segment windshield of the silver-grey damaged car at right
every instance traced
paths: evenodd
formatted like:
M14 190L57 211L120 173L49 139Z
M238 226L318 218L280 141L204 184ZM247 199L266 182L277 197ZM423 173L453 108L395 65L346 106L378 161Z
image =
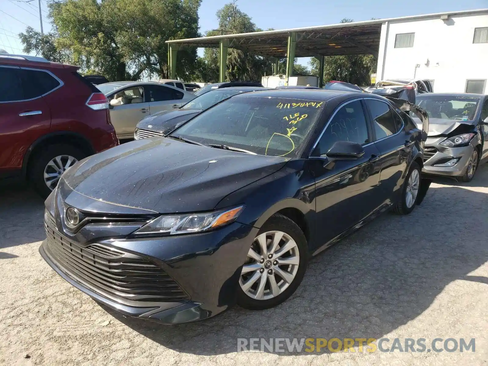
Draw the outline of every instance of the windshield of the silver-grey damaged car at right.
M425 109L430 118L469 121L474 119L480 99L467 96L429 95L416 97L416 104Z

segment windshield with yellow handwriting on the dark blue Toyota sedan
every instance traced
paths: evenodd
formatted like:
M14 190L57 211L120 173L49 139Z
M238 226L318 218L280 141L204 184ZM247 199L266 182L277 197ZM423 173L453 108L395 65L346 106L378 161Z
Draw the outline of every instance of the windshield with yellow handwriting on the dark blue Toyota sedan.
M236 95L173 131L172 135L269 156L296 157L325 102Z

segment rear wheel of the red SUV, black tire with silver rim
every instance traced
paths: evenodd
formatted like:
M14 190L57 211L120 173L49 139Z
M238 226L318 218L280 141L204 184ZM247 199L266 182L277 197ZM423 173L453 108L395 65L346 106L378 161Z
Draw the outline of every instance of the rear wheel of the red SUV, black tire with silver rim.
M56 177L53 177L51 187L47 185L44 180L45 170L47 169L47 174L52 175L54 175L56 172L55 170L53 170L54 167L52 165L50 167L47 166L49 162L54 160L56 157L63 157L61 158L62 165L66 165L68 163L67 157L72 159L74 158L74 160L69 164L69 166L71 166L77 161L80 161L81 159L86 157L86 154L83 153L80 149L65 144L47 146L46 148L40 150L39 154L36 155L37 156L35 156L29 163L27 177L33 188L36 190L37 193L39 193L39 195L43 199L46 199L47 196L49 196L52 190L56 187L56 184L59 181L59 177L61 177L61 175L58 176L58 181L55 181ZM61 174L64 172L63 167L61 167L61 169L59 170L61 171Z

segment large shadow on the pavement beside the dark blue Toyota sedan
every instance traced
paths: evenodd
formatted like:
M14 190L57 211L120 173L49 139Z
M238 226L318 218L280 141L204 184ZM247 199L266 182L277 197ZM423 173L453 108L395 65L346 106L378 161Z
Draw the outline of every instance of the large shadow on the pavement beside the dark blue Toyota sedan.
M295 295L269 310L235 307L164 326L104 308L163 346L200 355L234 352L237 338L381 338L422 314L452 281L488 285L468 275L488 260L486 187L486 168L471 183L433 184L411 215L383 215L312 259Z

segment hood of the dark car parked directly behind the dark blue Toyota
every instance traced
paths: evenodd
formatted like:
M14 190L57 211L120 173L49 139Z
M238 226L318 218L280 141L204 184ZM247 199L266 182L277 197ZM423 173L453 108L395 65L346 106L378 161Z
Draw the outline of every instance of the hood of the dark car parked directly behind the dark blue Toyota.
M193 116L201 113L201 109L172 109L161 111L150 116L144 117L137 124L136 128L157 130L167 135L182 123L188 121Z

